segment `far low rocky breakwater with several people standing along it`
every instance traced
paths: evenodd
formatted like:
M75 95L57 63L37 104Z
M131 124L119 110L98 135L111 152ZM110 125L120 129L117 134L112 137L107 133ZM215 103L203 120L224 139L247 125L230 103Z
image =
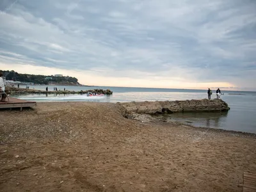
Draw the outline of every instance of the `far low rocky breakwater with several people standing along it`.
M86 93L97 93L97 94L105 94L112 95L113 92L111 90L81 90L81 91L68 91L68 90L58 90L58 91L48 91L46 90L32 90L32 89L24 89L24 88L15 88L15 87L7 87L6 93L9 95L20 95L20 94L86 94Z

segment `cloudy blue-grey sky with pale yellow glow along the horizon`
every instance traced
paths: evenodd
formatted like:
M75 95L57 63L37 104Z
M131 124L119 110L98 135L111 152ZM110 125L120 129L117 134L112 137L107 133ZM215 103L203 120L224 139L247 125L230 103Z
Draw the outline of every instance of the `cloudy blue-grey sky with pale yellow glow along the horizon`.
M255 0L1 0L0 69L256 90Z

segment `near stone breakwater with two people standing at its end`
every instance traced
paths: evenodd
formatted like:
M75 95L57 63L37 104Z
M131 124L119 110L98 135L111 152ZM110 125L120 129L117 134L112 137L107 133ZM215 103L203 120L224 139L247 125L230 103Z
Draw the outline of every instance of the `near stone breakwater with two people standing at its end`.
M230 109L228 104L221 99L124 102L118 104L126 117L132 117L134 114L157 115L178 112L228 111Z

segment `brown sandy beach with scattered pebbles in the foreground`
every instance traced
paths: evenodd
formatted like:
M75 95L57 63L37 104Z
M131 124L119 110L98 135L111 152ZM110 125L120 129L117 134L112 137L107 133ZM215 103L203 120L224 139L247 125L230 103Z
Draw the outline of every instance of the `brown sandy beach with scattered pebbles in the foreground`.
M243 191L256 136L122 116L118 105L0 111L0 191Z

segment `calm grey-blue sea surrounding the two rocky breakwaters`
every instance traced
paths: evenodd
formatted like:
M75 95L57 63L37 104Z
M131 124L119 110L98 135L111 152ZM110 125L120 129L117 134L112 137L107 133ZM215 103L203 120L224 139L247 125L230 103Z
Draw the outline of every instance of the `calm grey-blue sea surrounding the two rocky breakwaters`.
M22 88L24 86L21 86ZM30 86L36 90L45 90L46 86ZM53 90L54 86L48 86ZM104 97L86 97L86 95L53 95L31 94L17 95L19 99L35 100L36 102L54 101L87 101L87 102L130 102L154 100L187 100L205 99L207 90L163 89L163 88L124 88L99 86L57 86L58 90L91 90L110 89L113 95ZM183 122L198 127L211 127L232 131L256 133L256 92L222 91L221 99L230 106L228 113L175 113L164 116L168 121ZM241 95L232 95L239 93ZM214 91L212 98L215 97Z

